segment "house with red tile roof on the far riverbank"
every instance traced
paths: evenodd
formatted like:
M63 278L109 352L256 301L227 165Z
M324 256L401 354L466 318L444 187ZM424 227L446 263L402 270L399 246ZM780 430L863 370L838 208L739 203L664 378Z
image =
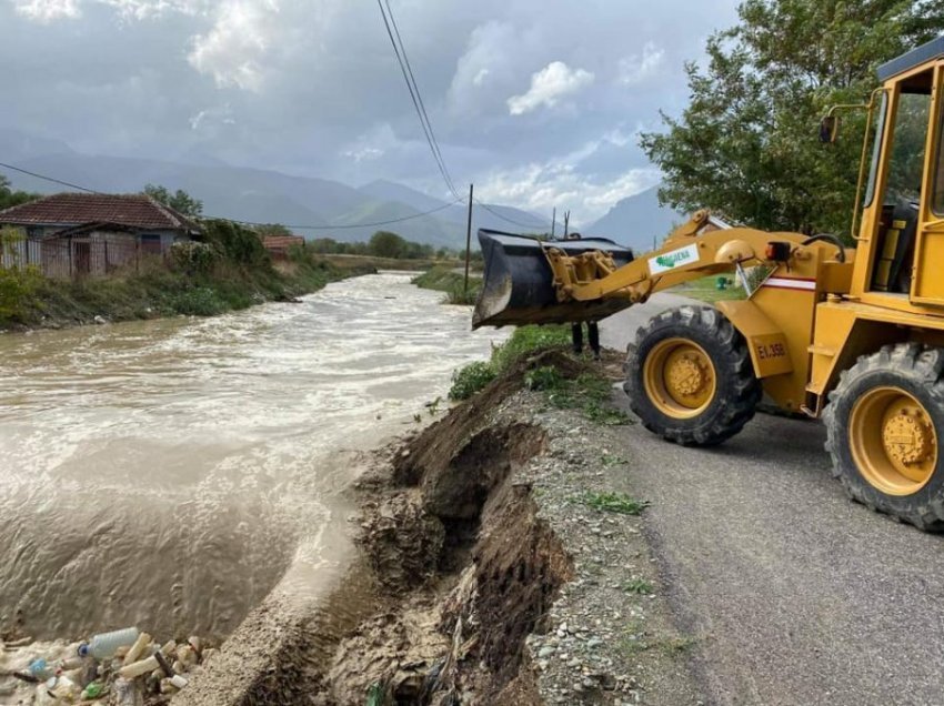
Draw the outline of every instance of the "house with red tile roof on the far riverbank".
M47 276L108 274L163 256L200 226L145 194L59 193L0 211L22 240L0 265L37 265Z

